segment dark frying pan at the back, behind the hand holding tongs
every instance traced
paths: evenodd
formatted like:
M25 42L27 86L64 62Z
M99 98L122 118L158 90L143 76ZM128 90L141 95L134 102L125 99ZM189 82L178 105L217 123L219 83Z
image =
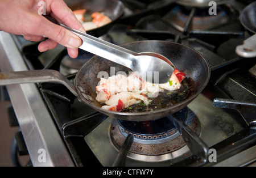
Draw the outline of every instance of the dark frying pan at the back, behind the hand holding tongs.
M88 14L92 12L104 12L104 14L112 20L111 23L106 24L105 26L86 31L89 35L95 37L100 37L108 32L113 27L113 24L121 18L124 9L123 3L118 0L65 0L64 2L73 11L86 9Z

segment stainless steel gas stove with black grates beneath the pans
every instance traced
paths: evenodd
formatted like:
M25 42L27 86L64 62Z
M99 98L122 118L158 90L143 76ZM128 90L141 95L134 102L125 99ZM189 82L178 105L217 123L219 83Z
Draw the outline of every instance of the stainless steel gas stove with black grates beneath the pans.
M101 39L114 44L167 40L208 61L210 80L173 116L117 120L96 112L55 83L7 86L32 166L249 166L256 160L255 58L236 46L249 37L240 23L251 1L218 1L217 15L199 1L122 1L125 12ZM210 23L209 23L210 22ZM93 55L71 59L63 46L39 53L38 43L0 32L0 69L53 69L73 82ZM46 159L42 158L45 151ZM216 162L212 162L212 150Z

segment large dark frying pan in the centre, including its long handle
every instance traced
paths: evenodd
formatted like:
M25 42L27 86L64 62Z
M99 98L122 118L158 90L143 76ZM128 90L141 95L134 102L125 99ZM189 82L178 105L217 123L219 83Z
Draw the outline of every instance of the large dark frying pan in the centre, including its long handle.
M94 56L80 68L76 74L75 85L58 71L30 70L0 73L0 86L17 83L59 82L67 86L80 101L107 116L127 121L147 121L180 111L195 99L208 83L210 77L208 62L196 50L185 45L170 41L135 41L121 46L138 53L149 51L166 56L177 69L187 75L185 79L189 81L188 95L179 103L168 105L168 107L156 111L127 113L101 109L102 104L96 100L96 86L102 77L98 74L104 71L110 77L110 67L115 67L115 73L124 71L129 74L130 69L98 56Z

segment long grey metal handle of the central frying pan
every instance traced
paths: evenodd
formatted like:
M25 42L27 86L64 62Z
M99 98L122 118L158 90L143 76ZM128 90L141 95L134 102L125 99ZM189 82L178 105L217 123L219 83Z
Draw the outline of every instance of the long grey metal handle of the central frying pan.
M28 71L9 71L0 73L0 86L22 83L61 83L78 97L76 88L67 78L56 70L28 70Z

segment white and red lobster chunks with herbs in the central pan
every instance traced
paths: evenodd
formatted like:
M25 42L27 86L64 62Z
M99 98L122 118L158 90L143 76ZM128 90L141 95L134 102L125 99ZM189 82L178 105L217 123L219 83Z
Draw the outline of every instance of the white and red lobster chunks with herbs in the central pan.
M160 101L170 99L169 96L162 98L163 94L159 92L171 95L172 91L181 88L181 81L184 78L185 74L177 69L172 73L170 80L163 84L146 82L135 73L131 73L128 77L122 74L113 75L108 79L101 78L100 83L96 87L96 100L105 104L102 106L102 109L109 111L129 112L129 109L130 111L133 111L134 108L138 110L138 107L141 106L146 106L147 110L154 111L159 108L158 105L161 105L159 99ZM183 94L184 91L181 93ZM158 103L155 103L155 101L158 101Z

